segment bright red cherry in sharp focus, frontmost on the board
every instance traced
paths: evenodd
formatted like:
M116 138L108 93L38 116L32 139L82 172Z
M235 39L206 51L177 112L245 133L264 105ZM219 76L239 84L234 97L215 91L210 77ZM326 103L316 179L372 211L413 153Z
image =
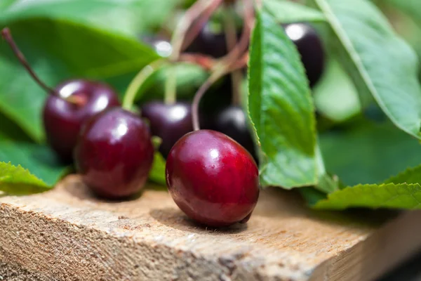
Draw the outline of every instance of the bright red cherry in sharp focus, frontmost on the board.
M250 153L223 133L199 130L175 143L166 162L175 203L206 226L245 223L259 197L259 171Z

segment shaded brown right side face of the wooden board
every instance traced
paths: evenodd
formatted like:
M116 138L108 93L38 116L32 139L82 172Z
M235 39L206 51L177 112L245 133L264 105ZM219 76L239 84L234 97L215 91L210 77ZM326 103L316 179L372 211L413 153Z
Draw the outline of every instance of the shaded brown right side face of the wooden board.
M375 280L421 249L421 211L407 211L366 240L321 263L311 281Z

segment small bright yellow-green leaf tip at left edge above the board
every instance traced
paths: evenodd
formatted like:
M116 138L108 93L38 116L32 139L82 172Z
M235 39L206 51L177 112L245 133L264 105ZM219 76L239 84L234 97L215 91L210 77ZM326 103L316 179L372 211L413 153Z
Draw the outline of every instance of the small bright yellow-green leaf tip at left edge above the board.
M26 195L48 190L50 187L22 166L0 162L0 192Z

